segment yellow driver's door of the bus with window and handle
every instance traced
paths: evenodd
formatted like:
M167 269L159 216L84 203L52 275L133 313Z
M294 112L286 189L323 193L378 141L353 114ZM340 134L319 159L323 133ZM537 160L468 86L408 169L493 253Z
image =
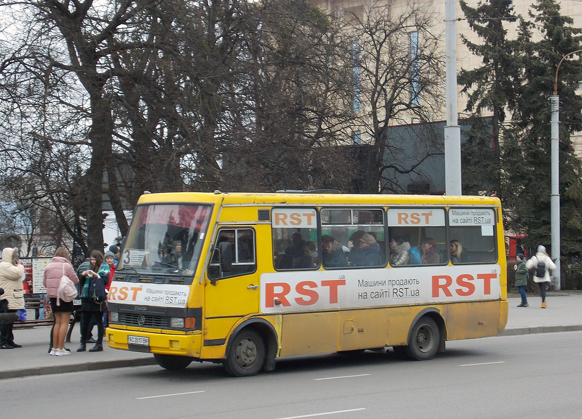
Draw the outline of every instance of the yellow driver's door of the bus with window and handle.
M219 249L225 248L224 243L230 244L226 247L230 247L232 255L232 267L228 271L221 269L219 264ZM256 247L253 228L226 226L218 230L217 240L212 244L212 248L216 250L211 257L205 286L204 317L207 319L209 333L224 335L224 328L230 328L240 317L258 313L259 275Z

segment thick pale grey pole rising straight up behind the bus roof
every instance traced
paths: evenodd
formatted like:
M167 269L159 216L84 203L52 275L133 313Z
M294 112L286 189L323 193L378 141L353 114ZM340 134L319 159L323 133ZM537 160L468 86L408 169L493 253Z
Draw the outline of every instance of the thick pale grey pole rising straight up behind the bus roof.
M457 123L457 27L456 1L445 0L446 54L446 126L445 126L445 193L461 191L461 127Z

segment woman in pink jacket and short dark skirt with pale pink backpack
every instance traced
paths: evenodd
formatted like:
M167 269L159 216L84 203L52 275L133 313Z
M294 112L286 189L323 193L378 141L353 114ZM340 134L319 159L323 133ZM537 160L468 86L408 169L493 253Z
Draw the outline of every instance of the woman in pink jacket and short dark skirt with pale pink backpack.
M65 287L63 283L64 276L67 276L73 283L75 295L72 298L63 294ZM44 276L42 277L42 285L47 289L51 313L55 319L52 327L52 347L49 352L51 355L63 356L70 354L70 351L65 349L65 337L69 328L71 313L74 311L73 299L76 296L74 284L77 283L79 283L79 278L74 273L69 252L66 248L59 247L56 249L52 261L44 268Z

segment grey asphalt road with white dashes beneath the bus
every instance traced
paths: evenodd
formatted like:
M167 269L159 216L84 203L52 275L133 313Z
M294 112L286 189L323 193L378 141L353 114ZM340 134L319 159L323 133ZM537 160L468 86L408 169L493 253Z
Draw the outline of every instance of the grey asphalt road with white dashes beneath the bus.
M445 354L422 362L370 351L287 358L249 378L193 363L179 372L145 366L5 379L0 411L83 419L578 419L581 343L578 331L447 342Z

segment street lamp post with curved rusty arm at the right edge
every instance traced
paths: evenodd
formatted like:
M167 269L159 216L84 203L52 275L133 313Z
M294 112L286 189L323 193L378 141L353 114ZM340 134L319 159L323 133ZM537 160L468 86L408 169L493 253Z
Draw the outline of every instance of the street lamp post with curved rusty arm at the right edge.
M554 271L555 289L561 289L560 271L560 97L558 96L558 72L560 66L567 56L582 52L582 49L569 52L562 57L556 68L556 78L553 83L553 95L550 98L550 106L552 110L551 122L551 150L552 150L552 194L550 200L550 221L552 223L552 258L555 259L556 269Z

